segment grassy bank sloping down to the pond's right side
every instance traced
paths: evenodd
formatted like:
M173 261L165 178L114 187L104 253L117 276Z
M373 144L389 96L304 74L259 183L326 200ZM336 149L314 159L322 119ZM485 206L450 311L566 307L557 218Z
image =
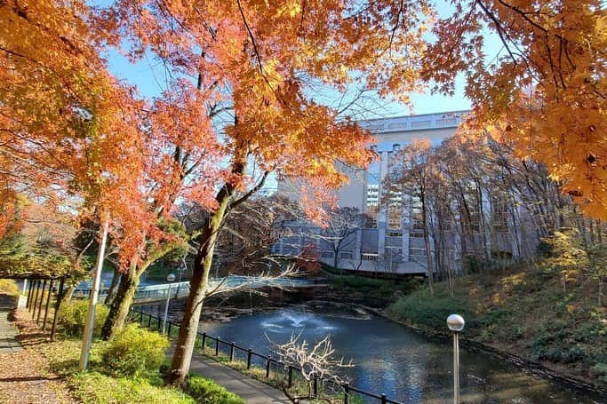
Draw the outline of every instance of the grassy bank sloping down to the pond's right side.
M607 382L607 310L596 305L595 283L571 282L563 292L555 275L518 272L472 275L399 298L387 314L421 329L443 332L450 313L466 319L465 338L539 361L571 376Z

